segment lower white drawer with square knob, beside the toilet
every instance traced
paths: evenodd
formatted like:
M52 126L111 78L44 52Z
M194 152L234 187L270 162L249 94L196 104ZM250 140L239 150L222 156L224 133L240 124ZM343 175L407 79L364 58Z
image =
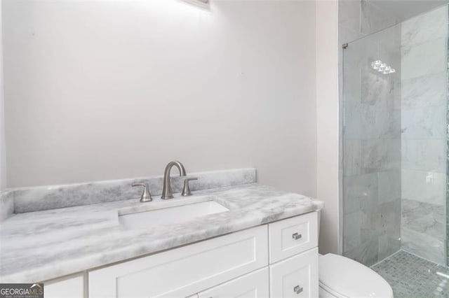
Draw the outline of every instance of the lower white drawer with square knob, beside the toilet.
M270 297L318 297L318 248L270 266Z

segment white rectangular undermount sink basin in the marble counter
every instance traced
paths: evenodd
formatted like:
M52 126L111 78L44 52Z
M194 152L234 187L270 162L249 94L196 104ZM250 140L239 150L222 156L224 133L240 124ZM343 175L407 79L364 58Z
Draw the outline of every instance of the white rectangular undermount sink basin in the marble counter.
M215 201L201 201L156 210L119 215L120 224L127 229L145 229L155 225L184 222L203 215L229 211Z

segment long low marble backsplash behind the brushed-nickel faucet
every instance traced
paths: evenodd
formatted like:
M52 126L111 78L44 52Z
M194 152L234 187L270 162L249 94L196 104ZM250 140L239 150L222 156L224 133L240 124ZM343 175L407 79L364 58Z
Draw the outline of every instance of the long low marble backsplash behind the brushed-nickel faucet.
M217 187L243 185L256 182L255 169L235 169L227 171L209 171L187 173L198 177L191 181L190 189L206 190ZM181 192L185 177L172 176L173 193ZM52 185L42 187L23 187L9 190L14 200L14 212L25 213L69 206L81 206L123 199L138 199L142 194L141 187L131 187L133 182L149 183L153 197L162 193L163 177L152 176L123 180L107 180L72 185Z

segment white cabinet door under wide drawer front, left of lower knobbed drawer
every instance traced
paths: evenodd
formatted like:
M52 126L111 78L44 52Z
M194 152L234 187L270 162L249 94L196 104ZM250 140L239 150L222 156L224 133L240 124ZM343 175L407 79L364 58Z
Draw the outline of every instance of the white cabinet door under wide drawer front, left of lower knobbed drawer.
M199 298L268 297L268 267L236 278L209 290L199 292Z

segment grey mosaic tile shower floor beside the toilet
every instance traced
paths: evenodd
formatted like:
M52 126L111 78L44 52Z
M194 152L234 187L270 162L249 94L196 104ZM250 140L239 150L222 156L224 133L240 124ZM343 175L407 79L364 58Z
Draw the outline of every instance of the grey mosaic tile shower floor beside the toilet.
M403 250L371 269L391 285L394 298L449 297L449 269Z

